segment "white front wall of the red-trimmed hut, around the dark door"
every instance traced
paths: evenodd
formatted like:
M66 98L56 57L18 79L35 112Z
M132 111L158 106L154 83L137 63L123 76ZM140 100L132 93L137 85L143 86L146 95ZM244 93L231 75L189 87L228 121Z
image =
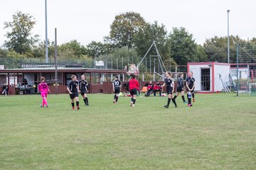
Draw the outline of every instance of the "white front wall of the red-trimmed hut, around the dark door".
M189 65L189 72L193 72L193 78L196 80L195 91L201 91L201 69L210 69L210 91L212 90L212 69L208 64Z

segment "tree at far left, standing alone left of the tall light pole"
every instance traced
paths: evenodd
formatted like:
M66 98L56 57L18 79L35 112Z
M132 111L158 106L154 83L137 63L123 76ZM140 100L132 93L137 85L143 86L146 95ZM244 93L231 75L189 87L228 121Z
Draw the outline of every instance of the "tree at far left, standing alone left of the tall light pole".
M13 21L4 22L4 28L11 29L6 33L6 38L9 40L5 41L5 46L19 54L29 52L31 47L38 42L38 35L31 35L35 24L35 19L29 13L16 12L13 15Z

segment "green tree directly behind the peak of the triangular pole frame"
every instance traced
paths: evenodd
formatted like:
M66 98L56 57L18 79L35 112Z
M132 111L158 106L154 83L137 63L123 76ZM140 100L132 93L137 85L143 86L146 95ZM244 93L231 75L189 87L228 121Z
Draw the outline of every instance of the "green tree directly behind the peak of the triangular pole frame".
M156 42L156 46L163 60L168 60L171 56L169 36L167 35L164 24L159 26L157 21L154 21L152 24L147 23L144 28L139 28L139 32L135 35L134 45L139 56L146 54L153 41ZM156 55L156 51L152 55Z

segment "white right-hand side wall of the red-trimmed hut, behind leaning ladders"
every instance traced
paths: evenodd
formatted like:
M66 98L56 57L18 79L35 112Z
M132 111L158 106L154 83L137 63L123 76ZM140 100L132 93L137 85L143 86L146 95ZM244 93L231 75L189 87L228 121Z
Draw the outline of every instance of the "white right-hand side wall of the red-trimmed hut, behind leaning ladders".
M223 81L229 84L228 75L230 73L230 66L229 65L221 65L221 64L214 64L214 91L222 91L223 84L220 80L219 74L221 75Z

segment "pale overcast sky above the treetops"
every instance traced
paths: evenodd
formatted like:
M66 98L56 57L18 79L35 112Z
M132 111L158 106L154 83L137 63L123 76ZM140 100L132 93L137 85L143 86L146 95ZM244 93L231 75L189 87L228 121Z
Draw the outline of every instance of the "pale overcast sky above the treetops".
M1 0L0 46L6 34L4 21L12 21L16 11L36 18L34 34L45 39L45 0ZM169 32L173 27L185 27L198 44L214 35L227 35L227 9L230 9L230 35L256 37L255 0L48 0L48 38L54 40L58 29L58 44L78 40L87 45L102 41L110 33L114 16L127 11L140 13L146 22L158 21Z

